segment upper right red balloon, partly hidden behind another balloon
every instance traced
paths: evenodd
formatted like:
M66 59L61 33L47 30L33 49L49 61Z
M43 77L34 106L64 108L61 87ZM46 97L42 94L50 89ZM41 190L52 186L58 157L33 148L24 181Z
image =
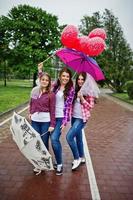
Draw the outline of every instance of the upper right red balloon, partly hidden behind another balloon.
M95 28L93 29L90 33L89 33L89 38L93 38L93 37L100 37L103 40L105 40L107 38L106 36L106 32L103 28Z

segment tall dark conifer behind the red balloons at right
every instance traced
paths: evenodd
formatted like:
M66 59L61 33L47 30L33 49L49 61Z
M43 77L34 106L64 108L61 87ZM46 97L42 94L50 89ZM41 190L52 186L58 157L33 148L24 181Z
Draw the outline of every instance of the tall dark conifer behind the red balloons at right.
M104 27L107 32L106 50L97 57L97 61L105 73L106 83L116 92L123 92L125 83L130 79L133 52L118 22L111 11L105 9L99 18L94 15L89 17L90 27ZM95 18L95 20L94 20ZM81 26L84 33L90 32L89 24ZM92 29L91 29L92 30Z

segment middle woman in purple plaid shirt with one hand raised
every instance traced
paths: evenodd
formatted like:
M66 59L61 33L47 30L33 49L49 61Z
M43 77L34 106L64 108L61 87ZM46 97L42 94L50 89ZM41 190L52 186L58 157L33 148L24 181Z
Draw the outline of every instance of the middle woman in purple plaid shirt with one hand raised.
M42 73L43 63L38 65L39 76ZM74 88L72 82L72 74L68 68L63 68L59 73L59 78L56 83L53 84L52 91L55 93L55 118L56 125L54 131L51 132L51 143L55 154L57 165L56 175L62 175L62 146L60 143L61 132L70 121L72 102L74 98Z

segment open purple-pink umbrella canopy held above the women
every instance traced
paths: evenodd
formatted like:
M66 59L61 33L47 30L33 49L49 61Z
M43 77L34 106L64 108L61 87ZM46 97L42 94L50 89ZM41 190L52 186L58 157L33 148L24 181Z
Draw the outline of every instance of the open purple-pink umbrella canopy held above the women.
M55 55L58 56L64 64L78 73L88 72L96 81L105 79L97 62L80 51L62 48L57 50Z

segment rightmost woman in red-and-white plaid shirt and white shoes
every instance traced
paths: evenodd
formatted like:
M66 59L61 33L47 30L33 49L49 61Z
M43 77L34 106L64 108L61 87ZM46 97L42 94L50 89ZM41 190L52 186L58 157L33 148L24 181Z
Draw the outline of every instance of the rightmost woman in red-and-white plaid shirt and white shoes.
M78 74L75 84L75 97L72 109L71 128L66 135L67 142L73 153L72 170L85 163L82 129L90 117L90 110L94 107L95 97L99 89L94 79L87 73Z

